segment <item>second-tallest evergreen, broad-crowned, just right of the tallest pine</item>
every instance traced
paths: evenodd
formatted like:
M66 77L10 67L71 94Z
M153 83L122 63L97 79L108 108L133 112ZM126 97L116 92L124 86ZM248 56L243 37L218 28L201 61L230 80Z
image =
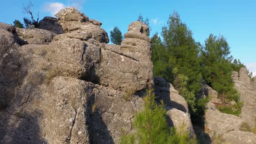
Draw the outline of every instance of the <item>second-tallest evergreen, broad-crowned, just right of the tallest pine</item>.
M233 88L232 59L230 47L223 36L213 36L205 40L205 47L201 52L203 78L213 89L219 92L219 98L224 102L238 101L239 95Z

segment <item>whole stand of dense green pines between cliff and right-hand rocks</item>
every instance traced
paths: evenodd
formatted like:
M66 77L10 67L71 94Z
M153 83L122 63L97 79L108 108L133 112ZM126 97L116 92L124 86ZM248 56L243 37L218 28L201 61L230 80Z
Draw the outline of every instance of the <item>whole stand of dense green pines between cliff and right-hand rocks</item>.
M199 118L204 114L204 109L197 111L201 108L201 101L196 101L194 96L200 91L203 80L219 93L223 105L218 108L222 112L238 115L241 104L230 105L230 101L238 102L240 97L233 88L231 75L233 70L239 71L245 65L230 56L226 39L210 34L204 46L201 46L195 42L191 30L175 11L170 15L167 26L162 28L161 35L163 41L158 33L151 38L154 75L174 85L186 99L192 116ZM176 74L175 68L178 69ZM231 107L232 112L229 111Z

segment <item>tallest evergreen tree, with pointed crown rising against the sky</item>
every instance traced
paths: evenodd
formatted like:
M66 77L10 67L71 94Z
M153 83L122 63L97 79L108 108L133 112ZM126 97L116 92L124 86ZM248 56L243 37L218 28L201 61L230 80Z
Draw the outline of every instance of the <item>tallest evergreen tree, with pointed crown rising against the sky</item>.
M198 92L202 80L198 59L200 43L195 42L191 30L181 22L177 12L170 15L167 24L162 28L162 36L169 56L168 65L177 67L180 74L187 75L189 91Z

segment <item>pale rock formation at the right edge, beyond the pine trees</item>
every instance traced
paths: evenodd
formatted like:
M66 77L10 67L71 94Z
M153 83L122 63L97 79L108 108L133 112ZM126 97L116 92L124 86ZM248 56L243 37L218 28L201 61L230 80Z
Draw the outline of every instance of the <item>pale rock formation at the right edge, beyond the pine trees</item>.
M228 144L255 144L256 134L241 131L243 124L249 125L250 128L255 127L256 92L253 91L253 82L245 68L241 68L239 73L234 71L232 78L235 88L240 93L240 101L243 101L240 117L221 113L215 105L221 103L221 100L211 98L205 113L205 130L211 138L214 138L216 132Z

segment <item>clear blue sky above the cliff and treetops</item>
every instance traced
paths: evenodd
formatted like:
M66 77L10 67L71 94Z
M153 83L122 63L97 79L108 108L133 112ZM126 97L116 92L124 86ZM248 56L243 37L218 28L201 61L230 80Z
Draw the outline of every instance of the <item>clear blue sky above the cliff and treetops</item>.
M2 0L0 22L22 20L22 4L29 0ZM161 33L168 17L177 11L201 44L209 36L223 35L230 45L231 55L245 63L256 75L256 0L32 0L39 19L64 7L77 7L90 19L102 22L109 34L118 26L124 34L128 25L141 13L148 17L151 34ZM28 16L28 15L26 15Z

